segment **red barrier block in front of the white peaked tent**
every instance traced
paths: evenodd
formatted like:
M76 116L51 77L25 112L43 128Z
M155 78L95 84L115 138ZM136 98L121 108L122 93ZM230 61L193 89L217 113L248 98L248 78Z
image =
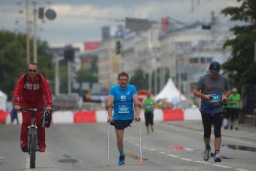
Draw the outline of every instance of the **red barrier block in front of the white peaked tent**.
M183 110L181 109L164 110L164 121L169 121L169 120L184 120Z

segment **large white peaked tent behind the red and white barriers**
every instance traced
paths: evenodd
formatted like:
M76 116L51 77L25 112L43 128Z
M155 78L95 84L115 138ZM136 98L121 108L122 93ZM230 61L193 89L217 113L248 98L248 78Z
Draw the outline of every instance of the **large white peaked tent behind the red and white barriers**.
M186 97L181 94L181 92L176 88L172 79L169 78L163 90L155 96L155 101L160 99L166 99L168 102L172 104L178 104L180 101L185 101Z

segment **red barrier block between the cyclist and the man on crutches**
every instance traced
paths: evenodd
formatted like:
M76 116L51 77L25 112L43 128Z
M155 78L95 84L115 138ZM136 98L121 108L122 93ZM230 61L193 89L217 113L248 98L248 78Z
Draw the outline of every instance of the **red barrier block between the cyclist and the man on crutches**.
M74 115L73 121L75 123L95 123L95 111L77 111Z

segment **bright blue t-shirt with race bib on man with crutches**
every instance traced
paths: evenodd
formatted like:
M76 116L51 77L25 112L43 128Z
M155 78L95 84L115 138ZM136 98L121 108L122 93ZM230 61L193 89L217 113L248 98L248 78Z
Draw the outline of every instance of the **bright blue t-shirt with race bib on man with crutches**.
M133 95L137 94L134 85L128 84L125 89L121 89L116 84L110 88L109 95L114 96L114 120L133 119Z

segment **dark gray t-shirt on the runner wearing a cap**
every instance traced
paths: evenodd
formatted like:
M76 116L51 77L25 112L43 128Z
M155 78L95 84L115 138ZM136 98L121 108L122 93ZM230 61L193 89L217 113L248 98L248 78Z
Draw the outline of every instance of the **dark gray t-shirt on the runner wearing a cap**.
M230 84L228 78L224 75L219 75L214 79L211 78L210 73L207 73L199 78L195 88L201 90L201 93L204 95L213 96L213 100L209 102L202 99L205 104L218 105L222 99L224 90L230 89ZM214 113L219 113L223 111L223 108L214 108L213 111ZM207 110L205 113L210 113L210 110Z

